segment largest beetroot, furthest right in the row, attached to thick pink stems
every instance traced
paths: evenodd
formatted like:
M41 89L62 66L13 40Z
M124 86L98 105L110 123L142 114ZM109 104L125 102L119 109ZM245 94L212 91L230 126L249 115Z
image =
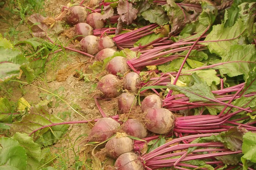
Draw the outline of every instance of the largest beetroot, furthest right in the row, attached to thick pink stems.
M146 128L157 134L167 134L174 127L174 115L164 108L149 108L145 111Z

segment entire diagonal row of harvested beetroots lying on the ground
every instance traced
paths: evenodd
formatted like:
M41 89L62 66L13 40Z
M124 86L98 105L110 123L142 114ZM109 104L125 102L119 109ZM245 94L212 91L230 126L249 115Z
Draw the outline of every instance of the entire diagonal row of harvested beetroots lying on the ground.
M111 57L116 52L114 41L109 36L101 38L93 35L93 29L104 27L104 22L97 18L100 13L91 13L87 16L84 7L73 6L66 11L66 22L75 25L72 30L77 40L80 41L81 51L95 55L95 60L103 61ZM84 38L83 38L84 37ZM120 114L129 114L137 105L137 98L134 94L138 92L140 77L137 73L129 72L130 69L126 63L126 58L116 56L106 65L109 74L101 78L97 84L103 98L118 98L118 110ZM122 80L118 73L124 75ZM123 92L126 91L126 92ZM116 132L125 132L127 135L144 138L148 135L147 130L156 134L167 134L174 126L174 116L162 108L161 98L157 95L149 95L141 103L140 119L128 119L120 125L112 118L99 119L87 138L87 141L103 142L107 141L105 149L101 152L116 160L116 168L140 170L143 165L137 159L137 155L132 153L134 149L133 140L124 134ZM129 117L129 116L127 116ZM125 161L123 161L125 158Z

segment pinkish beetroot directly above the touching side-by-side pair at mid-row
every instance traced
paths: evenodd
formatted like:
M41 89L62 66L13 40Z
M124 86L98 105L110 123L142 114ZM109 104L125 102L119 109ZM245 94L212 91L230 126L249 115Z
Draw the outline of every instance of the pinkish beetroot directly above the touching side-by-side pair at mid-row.
M126 63L126 58L121 56L116 56L112 58L106 66L108 73L117 75L117 73L124 74L128 72L129 68Z

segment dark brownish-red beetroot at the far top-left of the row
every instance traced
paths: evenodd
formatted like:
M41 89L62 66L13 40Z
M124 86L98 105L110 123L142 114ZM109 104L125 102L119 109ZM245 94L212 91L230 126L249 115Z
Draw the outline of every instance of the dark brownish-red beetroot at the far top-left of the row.
M73 26L80 22L85 22L87 15L85 7L79 5L71 6L66 13L66 22Z

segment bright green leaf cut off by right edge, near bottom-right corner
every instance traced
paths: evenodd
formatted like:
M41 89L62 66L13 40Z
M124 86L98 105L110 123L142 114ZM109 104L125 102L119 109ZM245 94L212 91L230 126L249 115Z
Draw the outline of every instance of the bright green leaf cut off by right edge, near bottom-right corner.
M242 153L244 154L242 158L250 160L256 163L256 134L252 132L247 132L244 136L244 141L242 143Z

